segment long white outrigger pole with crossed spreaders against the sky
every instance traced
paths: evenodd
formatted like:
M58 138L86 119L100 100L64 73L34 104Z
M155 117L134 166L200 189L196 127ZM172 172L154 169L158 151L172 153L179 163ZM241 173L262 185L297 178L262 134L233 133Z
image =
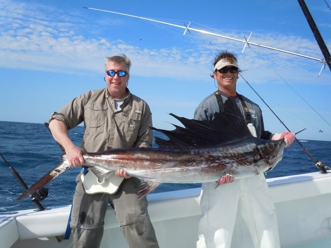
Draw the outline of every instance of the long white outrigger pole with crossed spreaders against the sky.
M250 35L249 35L248 39L246 39L246 37L244 37L245 40L240 40L240 39L232 38L232 37L225 36L225 35L216 34L216 33L213 33L213 32L206 31L206 30L202 30L202 29L191 28L190 27L191 22L189 22L188 25L184 24L184 26L181 26L181 25L176 25L176 24L164 22L164 21L158 21L158 20L154 20L154 19L150 19L150 18L146 18L146 17L136 16L136 15L130 15L130 14L124 14L124 13L114 12L114 11L110 11L110 10L104 10L104 9L98 9L98 8L90 8L90 7L83 7L83 8L87 8L87 9L91 9L91 10L97 10L97 11L102 11L102 12L107 12L107 13L125 15L125 16L129 16L129 17L134 17L134 18L142 19L142 20L147 20L147 21L151 21L151 22L165 24L165 25L168 25L168 26L182 28L182 29L184 29L183 35L185 35L187 31L189 33L190 33L190 31L195 31L195 32L202 33L202 34L213 35L213 36L217 36L217 37L220 37L220 38L224 38L224 39L228 39L228 40L232 40L232 41L237 41L237 42L245 43L245 46L244 46L244 49L243 49L242 53L244 52L244 50L245 50L245 48L247 46L249 47L251 45L251 46L257 46L257 47L266 48L266 49L270 49L270 50L274 50L274 51L278 51L278 52L282 52L282 53L286 53L286 54L291 54L291 55L303 57L303 58L310 59L310 60L319 61L319 62L322 62L324 64L326 63L326 61L325 61L324 58L314 58L314 57L310 57L310 56L306 56L306 55L302 55L302 54L297 54L297 53L293 53L293 52L290 52L290 51L286 51L286 50L283 50L283 49L277 49L277 48L268 47L268 46L264 46L264 45L261 45L261 44L250 42L249 39L250 39L250 37L251 37L251 35L252 35L253 32L250 32Z

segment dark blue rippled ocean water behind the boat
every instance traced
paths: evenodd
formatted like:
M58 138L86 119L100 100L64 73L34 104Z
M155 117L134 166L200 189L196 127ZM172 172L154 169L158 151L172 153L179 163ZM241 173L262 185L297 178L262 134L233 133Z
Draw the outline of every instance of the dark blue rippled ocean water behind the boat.
M69 132L73 141L80 145L83 126ZM162 136L160 132L156 136ZM313 157L331 167L331 142L301 140L301 144ZM156 145L154 144L154 147ZM60 162L62 151L44 124L0 121L0 153L14 168L27 186L31 186ZM40 201L45 208L71 204L75 191L75 178L81 168L71 168L46 187L47 198ZM285 148L282 161L266 178L275 178L309 172L319 172L304 149L294 142ZM153 193L199 187L200 184L163 184ZM7 164L0 158L0 212L36 208L29 197L16 201L23 192L22 186L11 174Z

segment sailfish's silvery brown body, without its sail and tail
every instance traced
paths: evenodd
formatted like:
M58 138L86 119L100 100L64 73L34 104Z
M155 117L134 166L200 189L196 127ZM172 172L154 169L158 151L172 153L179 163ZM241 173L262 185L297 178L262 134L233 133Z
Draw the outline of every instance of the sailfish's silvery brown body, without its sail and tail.
M83 157L84 166L100 174L123 169L144 181L186 184L217 181L226 174L239 179L269 171L282 159L284 146L283 140L247 137L221 146L116 149Z

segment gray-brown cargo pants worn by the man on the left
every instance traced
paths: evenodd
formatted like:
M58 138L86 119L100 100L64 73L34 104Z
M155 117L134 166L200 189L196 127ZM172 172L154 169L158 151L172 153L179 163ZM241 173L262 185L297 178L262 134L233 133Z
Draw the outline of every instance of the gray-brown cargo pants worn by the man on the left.
M74 248L100 246L108 203L115 211L130 248L159 248L147 210L147 199L138 199L139 179L125 179L115 194L86 194L80 175L76 182L71 216Z

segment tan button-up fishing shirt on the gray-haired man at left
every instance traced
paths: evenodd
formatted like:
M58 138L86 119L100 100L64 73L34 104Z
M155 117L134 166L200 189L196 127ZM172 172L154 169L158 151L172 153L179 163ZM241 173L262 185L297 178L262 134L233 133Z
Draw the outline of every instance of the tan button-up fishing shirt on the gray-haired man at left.
M120 111L115 110L114 100L104 88L83 93L55 112L51 120L62 121L68 130L84 122L81 147L86 152L151 147L151 110L144 100L128 92Z

